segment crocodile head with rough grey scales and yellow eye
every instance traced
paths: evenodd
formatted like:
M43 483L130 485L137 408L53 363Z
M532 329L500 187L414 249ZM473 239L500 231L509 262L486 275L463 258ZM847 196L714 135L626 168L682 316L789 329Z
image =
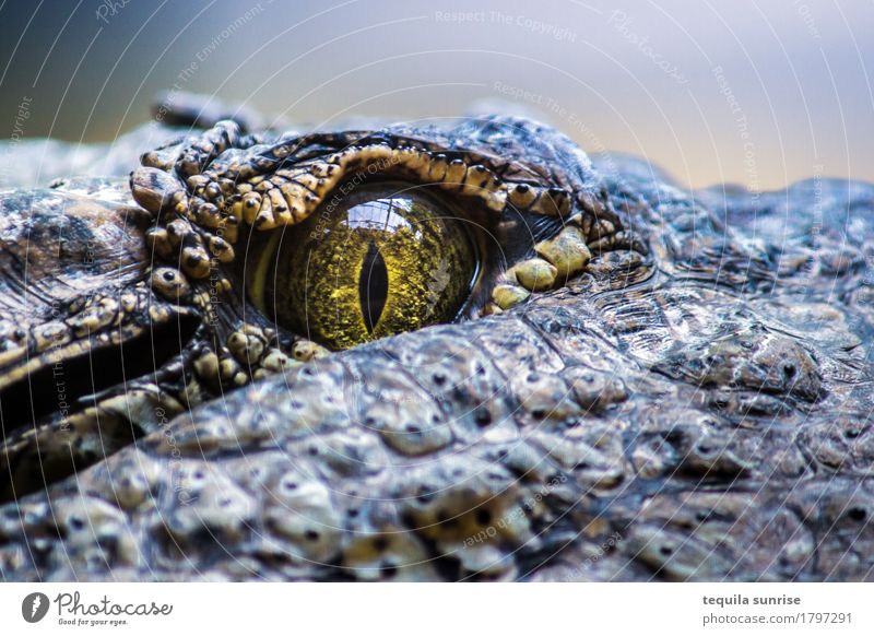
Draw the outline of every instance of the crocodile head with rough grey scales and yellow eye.
M10 151L4 580L874 578L874 186L191 104Z

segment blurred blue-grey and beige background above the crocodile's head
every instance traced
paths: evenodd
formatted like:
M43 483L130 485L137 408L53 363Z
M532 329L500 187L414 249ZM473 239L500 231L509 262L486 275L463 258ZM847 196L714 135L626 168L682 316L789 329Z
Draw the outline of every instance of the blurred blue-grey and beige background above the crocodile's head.
M477 104L694 187L874 180L873 28L870 0L12 0L0 138L110 141L162 91L328 127Z

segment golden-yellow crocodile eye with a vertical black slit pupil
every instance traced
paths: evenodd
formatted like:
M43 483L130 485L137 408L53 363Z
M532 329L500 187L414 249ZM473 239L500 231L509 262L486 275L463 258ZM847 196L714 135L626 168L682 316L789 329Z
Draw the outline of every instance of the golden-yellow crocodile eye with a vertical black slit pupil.
M275 231L247 287L280 325L330 349L454 319L479 272L474 242L450 205L380 184L329 198Z

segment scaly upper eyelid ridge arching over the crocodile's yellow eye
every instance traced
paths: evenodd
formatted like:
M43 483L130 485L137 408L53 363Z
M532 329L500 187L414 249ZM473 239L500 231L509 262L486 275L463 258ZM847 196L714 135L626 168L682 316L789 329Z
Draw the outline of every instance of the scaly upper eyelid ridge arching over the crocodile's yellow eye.
M531 130L515 120L508 126ZM463 125L458 130L458 134L466 134ZM264 143L261 138L241 134L236 123L223 121L188 142L176 158L143 155L143 167L131 176L131 190L138 203L155 215L156 227L150 236L162 258L170 262L178 258L179 269L192 282L211 275L213 258L222 263L235 260L239 237L251 236L246 226L258 232L296 225L362 172L435 186L447 197L458 197L464 213L468 202L476 201L474 208L498 228L500 250L510 250L508 262L531 256L525 250L530 252L532 244L547 234L530 220L519 222L516 229L520 233L499 231L508 217L516 223L520 213L540 216L534 223L550 231L576 223L589 243L602 243L603 237L607 246L627 243L626 237L614 236L621 225L603 188L595 180L580 185L586 175L562 180L568 188L557 188L550 170L527 165L524 153L518 150L505 158L486 139L474 137L468 149L457 146L459 140L451 130L423 130L421 136L410 137L399 128L314 133ZM532 143L535 153L541 142ZM548 140L544 144L548 149ZM177 222L186 226L185 237L169 232ZM535 232L525 232L525 224Z

